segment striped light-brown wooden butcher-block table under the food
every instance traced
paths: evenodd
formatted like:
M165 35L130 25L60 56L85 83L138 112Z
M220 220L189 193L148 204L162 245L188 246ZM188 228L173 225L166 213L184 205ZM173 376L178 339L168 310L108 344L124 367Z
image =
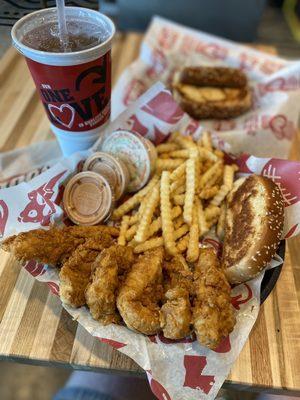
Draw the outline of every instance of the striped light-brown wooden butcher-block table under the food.
M138 55L142 36L118 34L112 79ZM264 48L263 48L264 49ZM270 49L267 49L270 51ZM0 150L53 138L25 60L10 48L0 61ZM300 135L291 159L300 160ZM1 167L1 166L0 166ZM0 191L1 193L1 191ZM228 376L237 389L300 394L300 239L287 241L284 267ZM142 375L129 357L93 338L36 281L0 250L0 359L114 374Z

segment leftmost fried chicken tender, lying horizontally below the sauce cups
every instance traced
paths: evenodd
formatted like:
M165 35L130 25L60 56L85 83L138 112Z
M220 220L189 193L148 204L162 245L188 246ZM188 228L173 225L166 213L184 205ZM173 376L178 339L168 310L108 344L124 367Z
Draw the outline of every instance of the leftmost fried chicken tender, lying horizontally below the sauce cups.
M44 264L60 265L74 250L88 238L97 237L103 243L110 243L110 234L118 230L107 226L69 226L35 229L22 232L4 240L1 247L10 251L18 261L36 260ZM105 246L106 247L106 246Z

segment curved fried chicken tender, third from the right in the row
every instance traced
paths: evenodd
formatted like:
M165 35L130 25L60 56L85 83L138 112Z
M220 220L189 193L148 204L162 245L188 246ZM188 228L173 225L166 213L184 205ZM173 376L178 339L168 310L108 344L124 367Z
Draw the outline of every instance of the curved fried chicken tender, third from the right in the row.
M140 256L128 272L117 297L117 307L127 327L145 335L160 330L163 256L161 247Z

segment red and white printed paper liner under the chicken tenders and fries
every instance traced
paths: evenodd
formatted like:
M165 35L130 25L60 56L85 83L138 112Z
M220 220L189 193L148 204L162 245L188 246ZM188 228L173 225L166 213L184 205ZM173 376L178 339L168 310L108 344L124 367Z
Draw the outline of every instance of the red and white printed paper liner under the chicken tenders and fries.
M189 132L193 124L174 102L169 91L160 83L132 104L108 128L130 128L156 144L174 130ZM224 143L220 142L224 146ZM66 181L80 171L82 161L92 150L61 159L29 182L22 182L0 191L0 234L2 238L52 223L63 223L62 192ZM237 159L240 172L261 174L273 179L285 198L284 237L300 231L300 163L274 158L243 156ZM6 185L15 180L6 180ZM208 237L206 243L218 248L218 242ZM272 266L281 262L272 261ZM58 294L58 271L47 265L30 261L25 268L35 278L48 283ZM170 341L162 335L151 337L137 334L124 326L101 326L93 320L88 309L64 305L71 316L88 332L135 360L147 373L153 393L160 400L213 399L238 357L259 312L260 286L263 274L232 289L232 304L237 323L234 331L215 350L202 347L189 337Z

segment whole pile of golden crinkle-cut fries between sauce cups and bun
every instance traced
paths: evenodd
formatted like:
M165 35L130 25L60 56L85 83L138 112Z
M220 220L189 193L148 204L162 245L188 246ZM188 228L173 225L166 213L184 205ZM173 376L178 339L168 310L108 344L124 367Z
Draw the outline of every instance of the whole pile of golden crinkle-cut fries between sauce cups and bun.
M175 132L157 153L156 174L113 213L121 221L118 243L137 254L164 246L170 256L186 252L195 262L199 240L211 228L224 236L225 199L238 167L224 165L208 132L197 143Z

